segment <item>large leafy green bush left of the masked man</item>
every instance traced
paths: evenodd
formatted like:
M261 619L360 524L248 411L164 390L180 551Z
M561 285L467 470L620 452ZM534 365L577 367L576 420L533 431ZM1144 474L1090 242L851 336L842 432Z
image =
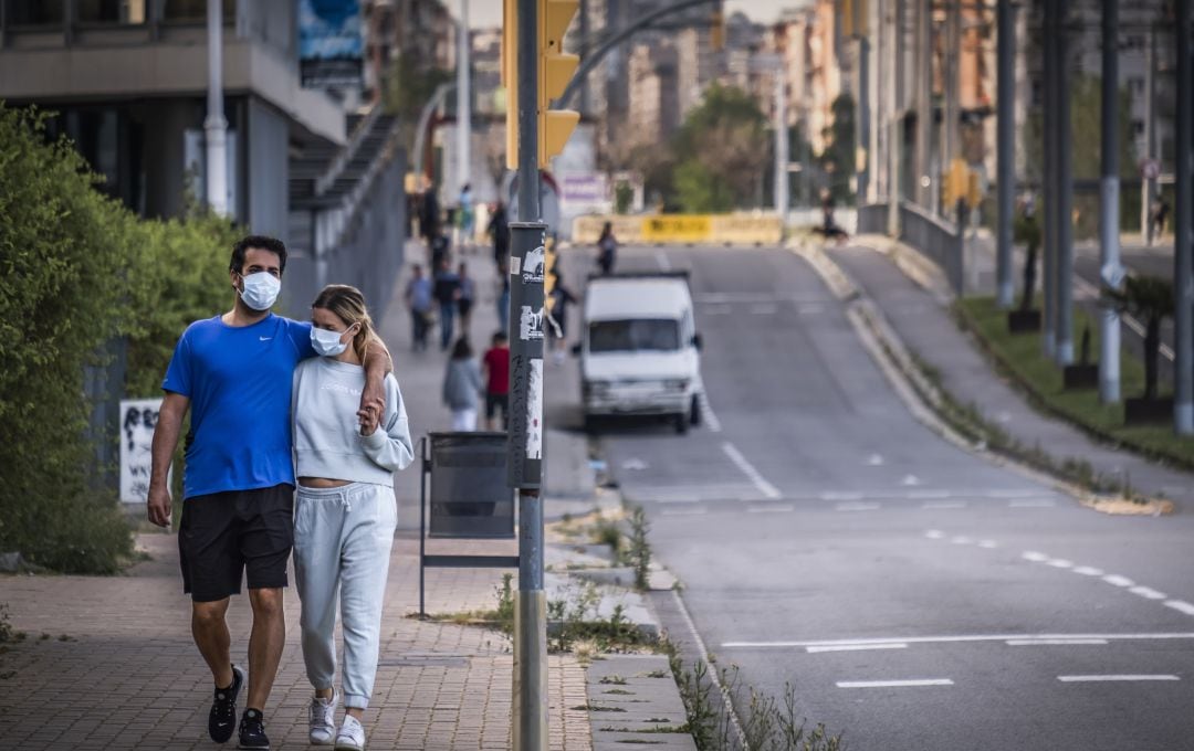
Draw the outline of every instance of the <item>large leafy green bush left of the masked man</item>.
M233 229L139 221L44 117L0 103L0 552L110 573L133 545L92 477L84 370L123 337L125 393L159 393L185 324L226 302Z

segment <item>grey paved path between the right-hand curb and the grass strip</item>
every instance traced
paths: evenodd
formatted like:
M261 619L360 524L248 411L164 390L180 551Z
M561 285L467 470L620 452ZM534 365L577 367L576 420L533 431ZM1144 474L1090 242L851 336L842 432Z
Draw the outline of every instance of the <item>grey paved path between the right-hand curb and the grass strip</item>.
M1194 508L1194 476L1097 443L1077 428L1033 410L954 323L943 280L922 279L928 286L912 281L884 252L890 246L887 238L863 236L855 247L826 252L907 349L940 372L942 386L959 403L973 404L1021 443L1039 445L1057 460L1084 459L1097 472L1130 477L1132 486L1146 495L1162 494L1178 507ZM924 273L923 267L917 269L918 277Z

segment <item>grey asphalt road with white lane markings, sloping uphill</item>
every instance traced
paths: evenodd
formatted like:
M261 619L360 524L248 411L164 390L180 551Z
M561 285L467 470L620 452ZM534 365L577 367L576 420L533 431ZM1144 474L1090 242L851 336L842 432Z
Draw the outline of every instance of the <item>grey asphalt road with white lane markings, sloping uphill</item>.
M855 751L1194 749L1194 523L1097 515L938 439L793 254L620 267L690 269L710 409L599 442L744 685L792 683Z

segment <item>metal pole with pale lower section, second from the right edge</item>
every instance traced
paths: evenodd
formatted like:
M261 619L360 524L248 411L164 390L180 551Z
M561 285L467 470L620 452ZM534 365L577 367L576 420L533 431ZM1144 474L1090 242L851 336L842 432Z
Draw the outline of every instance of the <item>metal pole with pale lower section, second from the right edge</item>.
M1102 98L1102 205L1100 206L1100 261L1103 283L1119 286L1119 0L1103 0L1103 98ZM1103 404L1120 401L1120 321L1110 305L1098 318L1098 398Z

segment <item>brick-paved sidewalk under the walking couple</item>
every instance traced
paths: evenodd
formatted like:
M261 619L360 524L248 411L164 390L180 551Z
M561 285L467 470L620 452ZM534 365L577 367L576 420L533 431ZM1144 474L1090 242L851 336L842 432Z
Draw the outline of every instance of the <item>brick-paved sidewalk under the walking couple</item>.
M407 257L421 261L421 248L412 246ZM472 333L480 353L497 328L493 261L484 249L464 260L478 283ZM410 350L410 318L401 299L406 275L404 269L390 314L378 324L394 354L418 439L447 429L450 416L439 398L445 355ZM558 372L552 371L553 380L567 378L558 379ZM572 498L571 505L549 502L549 513L591 508L584 437L552 434L548 440L553 486ZM587 476L573 471L581 464ZM417 468L400 473L398 480L400 523L417 528ZM407 617L418 610L418 540L410 532L399 535L390 558L381 662L365 714L368 747L509 749L513 671L509 641L481 628ZM517 550L513 540L454 545L461 553ZM27 634L0 653L0 690L7 707L0 713L0 738L7 747L221 747L207 734L211 678L191 641L190 601L181 594L176 538L144 534L137 547L148 559L123 576L0 576L0 603L7 603L13 628ZM501 573L427 569L427 612L492 608ZM298 608L291 588L285 596L287 647L265 709L275 749L308 746L310 685L298 647ZM233 598L228 621L234 658L246 664L247 596ZM592 749L584 668L571 654L553 654L549 684L550 747ZM235 739L223 747L234 744Z

